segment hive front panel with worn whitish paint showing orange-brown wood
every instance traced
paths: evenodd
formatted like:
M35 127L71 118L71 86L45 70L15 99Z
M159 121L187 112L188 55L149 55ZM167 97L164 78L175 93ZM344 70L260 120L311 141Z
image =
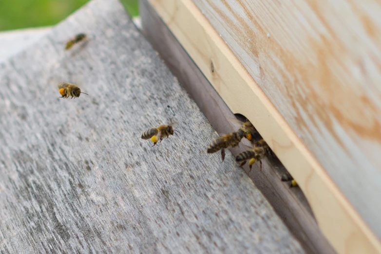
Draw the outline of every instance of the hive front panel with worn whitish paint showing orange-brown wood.
M381 239L380 1L193 2Z

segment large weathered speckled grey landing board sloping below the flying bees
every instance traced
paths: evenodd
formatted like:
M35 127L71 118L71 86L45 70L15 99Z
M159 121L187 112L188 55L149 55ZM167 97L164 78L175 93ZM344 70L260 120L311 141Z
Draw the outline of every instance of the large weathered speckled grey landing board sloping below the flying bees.
M78 32L94 38L64 52ZM303 253L233 156L206 153L217 134L118 1L90 2L0 78L1 253ZM59 99L60 81L89 96ZM171 122L181 135L140 139Z

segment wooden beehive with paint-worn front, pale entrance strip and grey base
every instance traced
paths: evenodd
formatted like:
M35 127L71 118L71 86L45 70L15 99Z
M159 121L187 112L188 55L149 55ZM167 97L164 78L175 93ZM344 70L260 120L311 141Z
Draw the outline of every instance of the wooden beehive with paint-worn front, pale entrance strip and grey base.
M140 3L145 35L213 127L244 115L299 183L312 213L273 160L249 174L304 247L381 253L380 2Z

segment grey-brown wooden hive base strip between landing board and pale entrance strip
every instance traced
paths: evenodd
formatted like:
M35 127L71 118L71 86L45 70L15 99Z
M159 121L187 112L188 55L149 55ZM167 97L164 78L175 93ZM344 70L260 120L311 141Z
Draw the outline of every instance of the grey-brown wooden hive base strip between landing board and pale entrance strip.
M152 5L147 0L139 2L144 35L195 100L210 124L218 133L236 131L238 127L229 121L229 117L234 118L234 115L220 95L181 47ZM245 148L241 146L230 150L236 156ZM262 171L258 164L254 164L250 173L248 165L245 170L307 253L335 253L320 231L300 188L289 188L287 183L280 181L286 169L279 160L274 157L263 160Z

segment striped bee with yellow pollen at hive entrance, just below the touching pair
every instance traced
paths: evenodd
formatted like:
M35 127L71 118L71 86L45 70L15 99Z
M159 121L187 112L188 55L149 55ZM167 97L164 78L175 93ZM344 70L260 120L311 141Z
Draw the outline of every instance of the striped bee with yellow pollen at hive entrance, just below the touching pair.
M271 148L267 145L265 140L261 139L254 144L254 148L252 148L251 150L238 154L235 158L235 161L237 163L241 163L240 165L243 166L245 165L246 161L250 159L248 163L250 168L249 172L251 171L252 164L254 164L256 161L259 161L260 169L262 170L261 160L271 153Z

